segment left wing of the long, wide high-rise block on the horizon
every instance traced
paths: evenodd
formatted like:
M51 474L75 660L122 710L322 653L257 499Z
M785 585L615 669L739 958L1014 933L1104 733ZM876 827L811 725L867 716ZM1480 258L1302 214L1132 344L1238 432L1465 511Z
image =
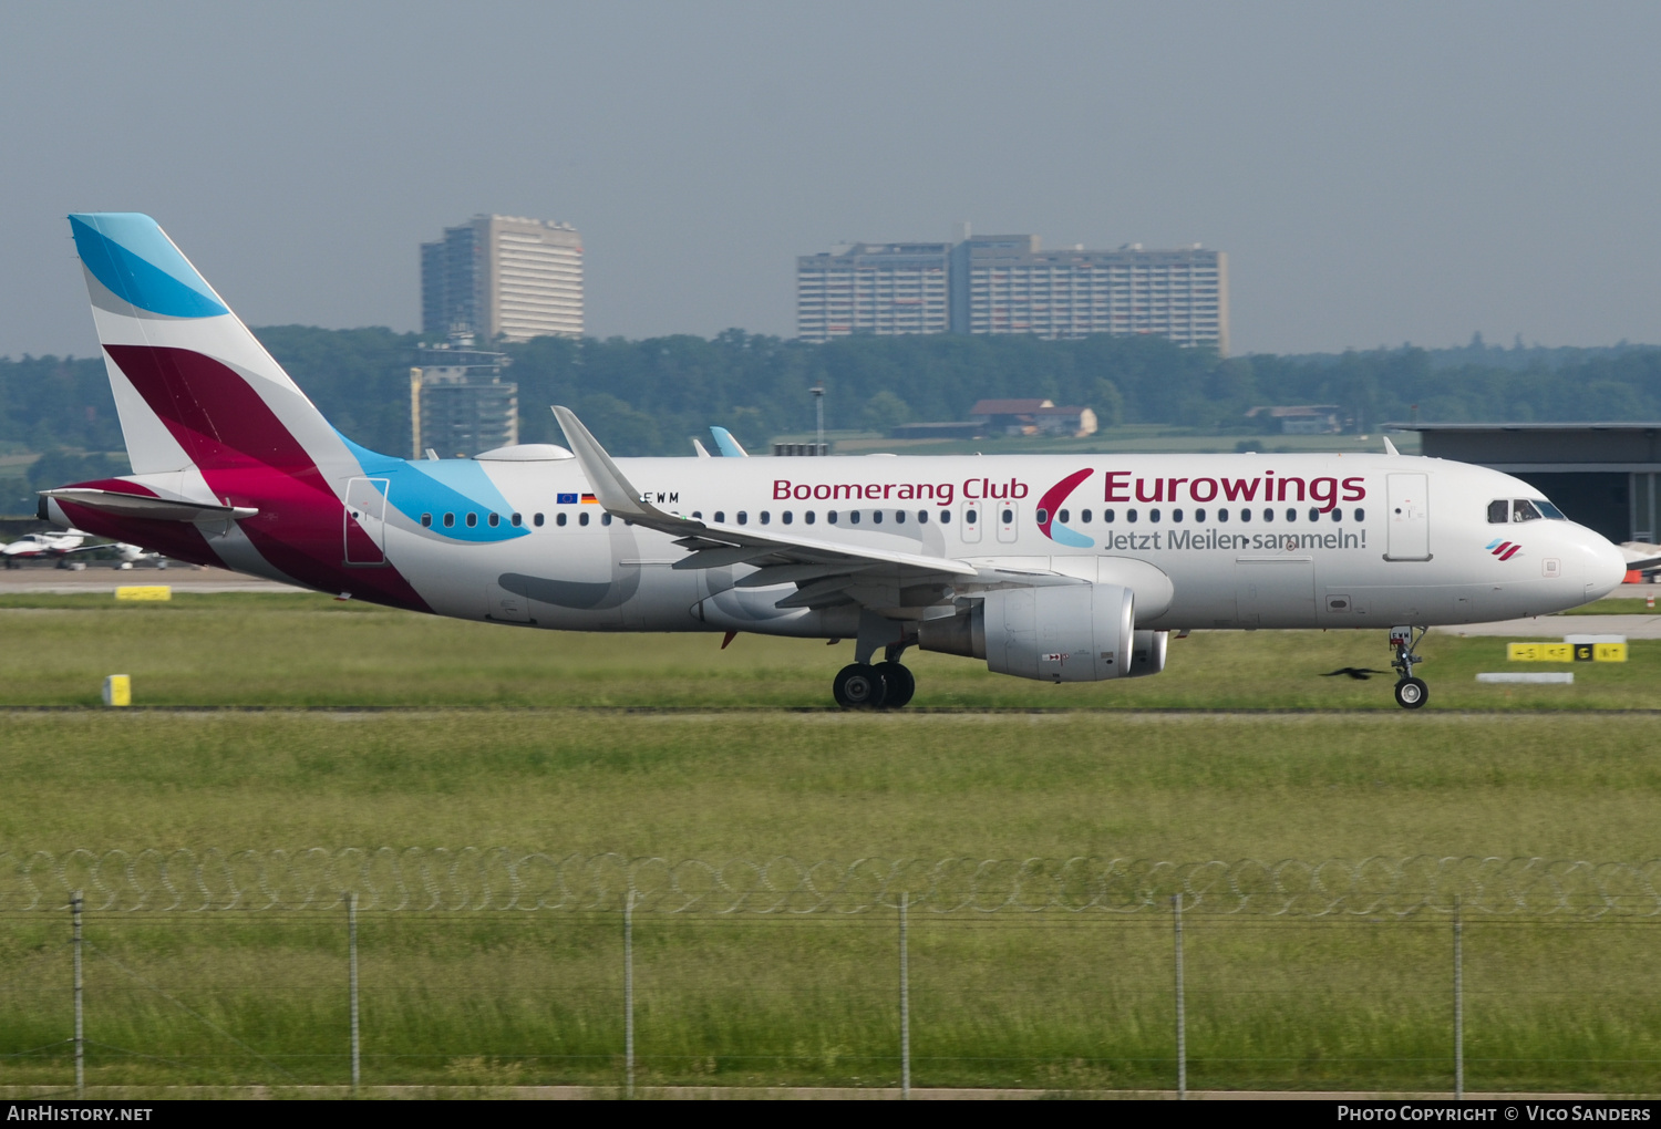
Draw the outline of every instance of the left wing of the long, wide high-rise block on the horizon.
M948 242L855 242L796 259L796 332L832 337L943 334Z

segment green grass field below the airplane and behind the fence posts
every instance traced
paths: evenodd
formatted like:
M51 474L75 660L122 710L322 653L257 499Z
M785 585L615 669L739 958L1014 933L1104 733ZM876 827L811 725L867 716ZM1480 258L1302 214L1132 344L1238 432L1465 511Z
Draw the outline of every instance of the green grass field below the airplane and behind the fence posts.
M1656 717L1610 712L1656 704L1661 643L1507 691L1472 677L1503 639L1432 636L1417 714L1389 677L1319 677L1384 667L1382 633L1196 634L1126 686L919 656L920 709L840 714L819 707L847 644L719 651L311 596L10 596L0 628L0 702L25 707L0 714L12 852L1661 855ZM110 672L140 704L277 709L27 709L95 702ZM1256 712L1206 712L1224 709ZM61 915L0 913L0 1056L20 1056L0 1084L66 1078L66 940ZM344 1079L341 913L93 913L88 940L90 1081ZM360 940L365 1081L618 1081L618 915L364 915ZM1661 1089L1658 943L1646 921L1470 921L1467 1086ZM892 1084L895 951L892 912L641 915L641 1084ZM1196 915L1189 1081L1447 1087L1450 975L1437 915ZM915 915L912 995L919 1086L1174 1078L1158 915Z

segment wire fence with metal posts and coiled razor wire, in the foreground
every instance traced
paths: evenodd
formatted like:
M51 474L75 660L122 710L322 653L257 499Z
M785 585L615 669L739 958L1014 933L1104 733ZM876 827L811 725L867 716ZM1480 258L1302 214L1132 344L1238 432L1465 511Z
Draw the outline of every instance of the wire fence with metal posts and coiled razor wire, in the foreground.
M12 850L0 1084L1653 1091L1658 880L1661 860Z

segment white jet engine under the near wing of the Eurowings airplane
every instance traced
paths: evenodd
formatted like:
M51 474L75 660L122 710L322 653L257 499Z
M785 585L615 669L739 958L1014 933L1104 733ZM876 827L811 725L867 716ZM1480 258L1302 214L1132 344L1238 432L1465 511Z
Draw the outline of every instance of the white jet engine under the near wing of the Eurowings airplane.
M993 674L1100 682L1139 672L1131 669L1133 636L1148 634L1153 656L1158 634L1158 667L1164 666L1163 633L1138 633L1134 623L1134 594L1120 584L1013 588L987 593L962 616L924 623L917 646L985 659Z

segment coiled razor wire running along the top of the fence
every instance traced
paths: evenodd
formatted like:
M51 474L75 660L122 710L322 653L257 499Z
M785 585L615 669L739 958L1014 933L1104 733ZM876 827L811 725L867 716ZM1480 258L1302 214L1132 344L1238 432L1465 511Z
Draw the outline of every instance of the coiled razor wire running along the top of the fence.
M553 855L507 848L0 850L0 913L80 890L95 912L618 912L714 915L1108 913L1661 918L1661 858L1432 857L1158 862L963 858L802 862Z

